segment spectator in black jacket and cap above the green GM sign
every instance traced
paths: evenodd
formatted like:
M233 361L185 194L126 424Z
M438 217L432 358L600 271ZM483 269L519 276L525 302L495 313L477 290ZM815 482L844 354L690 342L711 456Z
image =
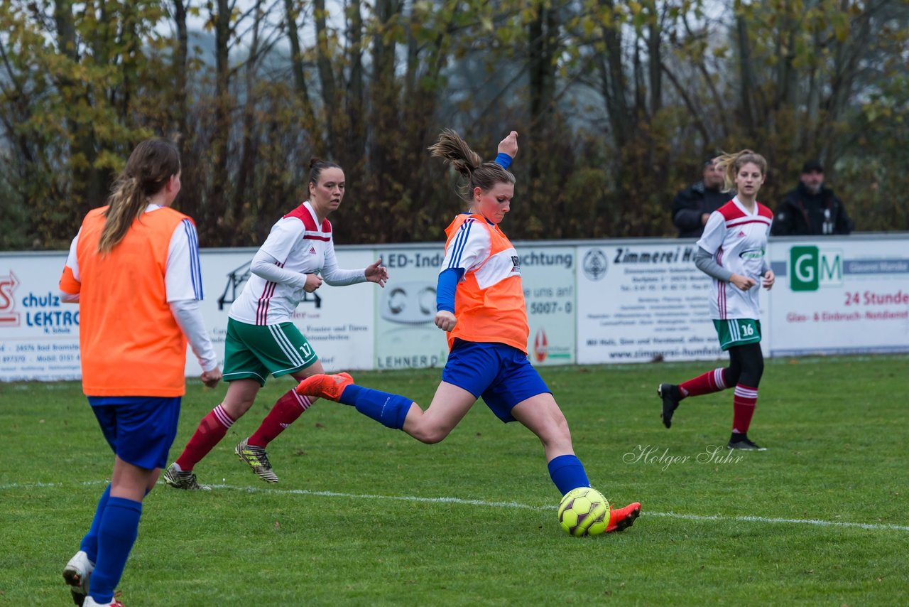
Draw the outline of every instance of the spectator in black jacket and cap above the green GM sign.
M824 187L824 167L809 160L802 167L798 187L783 198L776 207L774 236L826 236L849 234L854 226L846 215L843 201L834 190Z

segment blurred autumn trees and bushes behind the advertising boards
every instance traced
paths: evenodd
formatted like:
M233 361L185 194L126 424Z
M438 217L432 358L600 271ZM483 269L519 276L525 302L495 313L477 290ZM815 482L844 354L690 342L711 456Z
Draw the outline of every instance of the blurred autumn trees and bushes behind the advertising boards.
M203 247L255 246L345 168L339 243L436 241L425 148L520 133L514 239L671 236L705 156L771 207L819 158L859 230L909 230L902 0L0 0L0 248L60 249L132 147L173 138Z

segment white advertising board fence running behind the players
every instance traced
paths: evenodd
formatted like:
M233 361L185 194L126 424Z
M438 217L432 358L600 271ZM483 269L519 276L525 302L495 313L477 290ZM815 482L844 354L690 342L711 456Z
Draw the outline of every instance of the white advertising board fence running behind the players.
M717 359L710 279L692 241L666 238L515 243L534 365ZM205 324L224 352L230 303L254 248L204 249ZM777 276L762 289L768 356L909 351L909 235L774 238ZM381 257L391 280L308 294L294 321L325 369L441 367L435 328L440 244L338 247L343 268ZM78 379L78 306L57 281L65 252L0 253L0 379ZM113 363L112 363L113 364ZM149 361L151 366L153 361ZM187 375L200 372L192 354Z

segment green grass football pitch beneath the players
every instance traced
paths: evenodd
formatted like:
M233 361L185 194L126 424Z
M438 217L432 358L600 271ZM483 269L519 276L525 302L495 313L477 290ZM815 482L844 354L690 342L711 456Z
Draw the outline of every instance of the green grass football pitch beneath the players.
M685 400L660 381L710 363L544 369L594 487L643 514L575 539L534 436L478 403L427 446L320 401L269 447L277 485L235 457L292 384L196 468L163 484L120 585L137 605L895 605L909 602L909 357L768 360L750 436L724 445L732 392ZM360 373L429 402L437 370ZM187 386L171 458L225 388ZM75 383L0 384L0 604L66 605L61 577L113 456ZM723 447L716 456L711 446ZM644 452L645 457L637 456ZM629 455L631 454L631 455ZM716 460L716 458L723 460ZM710 460L710 461L704 461Z

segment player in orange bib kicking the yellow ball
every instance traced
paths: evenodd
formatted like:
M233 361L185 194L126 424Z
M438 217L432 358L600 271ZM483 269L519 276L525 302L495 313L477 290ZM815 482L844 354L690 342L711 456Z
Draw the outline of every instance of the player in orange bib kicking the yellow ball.
M425 443L445 439L483 397L500 420L518 420L539 437L549 473L563 495L588 487L568 423L527 360L521 265L499 228L511 208L514 175L496 162L484 163L454 131L443 131L430 150L464 176L462 193L470 206L445 228L448 238L436 291L435 325L448 333L450 354L432 403L424 411L403 396L358 386L346 373L314 375L297 391L353 405L367 417ZM640 511L636 502L612 511L606 531L623 530Z

